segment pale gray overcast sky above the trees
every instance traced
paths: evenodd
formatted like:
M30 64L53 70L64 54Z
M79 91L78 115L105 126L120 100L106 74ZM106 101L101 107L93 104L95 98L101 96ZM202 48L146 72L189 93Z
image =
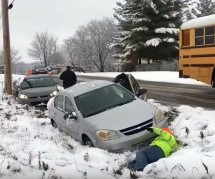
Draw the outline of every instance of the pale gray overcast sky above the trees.
M62 42L92 19L113 17L117 1L120 0L15 0L9 10L11 46L28 61L27 49L35 32L48 32ZM1 48L2 43L1 40Z

